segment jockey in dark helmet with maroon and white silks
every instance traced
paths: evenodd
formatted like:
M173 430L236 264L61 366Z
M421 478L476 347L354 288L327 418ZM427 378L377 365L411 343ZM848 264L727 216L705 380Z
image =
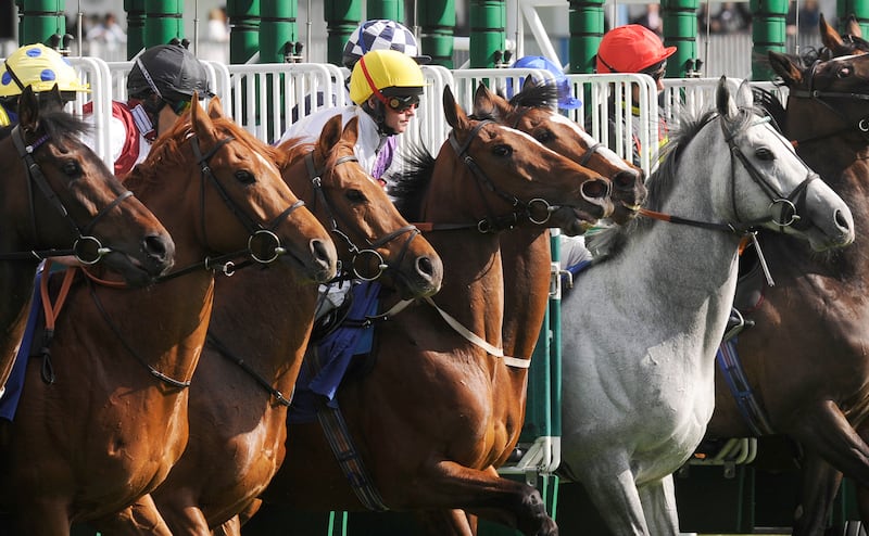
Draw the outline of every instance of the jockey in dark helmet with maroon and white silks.
M112 102L109 128L116 176L144 161L156 137L190 107L194 92L200 100L214 97L205 66L181 44L160 44L136 58L127 77L127 102ZM86 118L92 117L90 103L85 106Z

